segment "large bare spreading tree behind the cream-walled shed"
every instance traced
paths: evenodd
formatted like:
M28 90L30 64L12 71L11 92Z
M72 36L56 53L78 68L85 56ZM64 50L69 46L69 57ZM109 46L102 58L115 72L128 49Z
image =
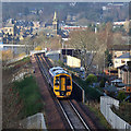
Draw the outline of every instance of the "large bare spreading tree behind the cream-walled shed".
M104 56L106 50L104 33L95 34L91 28L71 32L69 45L81 50L80 56L85 73L88 73L94 59L98 60L97 55Z

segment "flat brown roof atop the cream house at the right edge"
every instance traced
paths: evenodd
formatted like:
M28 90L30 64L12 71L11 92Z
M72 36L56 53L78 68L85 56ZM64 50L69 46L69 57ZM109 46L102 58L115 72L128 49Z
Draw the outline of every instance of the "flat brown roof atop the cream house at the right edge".
M114 45L109 50L130 50L131 45Z

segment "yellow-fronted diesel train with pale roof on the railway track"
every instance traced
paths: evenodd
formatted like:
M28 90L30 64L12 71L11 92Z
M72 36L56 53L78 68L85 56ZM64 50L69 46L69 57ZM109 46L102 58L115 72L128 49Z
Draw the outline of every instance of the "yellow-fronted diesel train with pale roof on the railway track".
M72 92L71 74L61 67L53 67L49 69L49 74L55 95L60 98L69 97Z

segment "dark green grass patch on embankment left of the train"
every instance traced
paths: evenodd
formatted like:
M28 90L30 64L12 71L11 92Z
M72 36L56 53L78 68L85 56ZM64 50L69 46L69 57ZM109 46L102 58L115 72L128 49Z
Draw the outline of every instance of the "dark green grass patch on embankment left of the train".
M15 92L19 92L20 99L23 102L22 116L32 116L43 108L41 97L38 85L33 76L25 78L20 82L14 82Z

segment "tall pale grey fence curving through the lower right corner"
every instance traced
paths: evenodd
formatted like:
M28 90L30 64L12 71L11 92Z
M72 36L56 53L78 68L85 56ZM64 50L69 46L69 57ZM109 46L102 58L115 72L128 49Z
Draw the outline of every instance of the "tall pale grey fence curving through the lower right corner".
M131 126L122 120L120 117L118 117L115 112L112 112L112 110L110 109L111 105L115 105L117 108L119 108L119 100L109 96L100 97L100 111L110 123L112 129L131 131Z

